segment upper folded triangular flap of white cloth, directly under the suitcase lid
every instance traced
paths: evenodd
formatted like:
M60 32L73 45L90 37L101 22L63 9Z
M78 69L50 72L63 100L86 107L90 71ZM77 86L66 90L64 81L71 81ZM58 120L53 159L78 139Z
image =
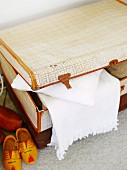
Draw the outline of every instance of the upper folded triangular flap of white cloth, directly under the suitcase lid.
M67 101L93 105L101 72L102 70L98 70L96 72L71 79L70 84L72 88L69 90L62 83L58 83L35 92ZM11 86L19 90L32 91L31 87L20 75L16 76Z

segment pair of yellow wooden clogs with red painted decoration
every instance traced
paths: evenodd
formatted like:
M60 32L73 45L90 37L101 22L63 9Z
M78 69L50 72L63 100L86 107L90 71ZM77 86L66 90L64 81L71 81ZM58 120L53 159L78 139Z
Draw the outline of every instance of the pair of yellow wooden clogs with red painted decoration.
M16 137L8 135L3 142L3 166L5 170L21 170L22 160L33 164L38 157L38 149L26 128L18 128Z

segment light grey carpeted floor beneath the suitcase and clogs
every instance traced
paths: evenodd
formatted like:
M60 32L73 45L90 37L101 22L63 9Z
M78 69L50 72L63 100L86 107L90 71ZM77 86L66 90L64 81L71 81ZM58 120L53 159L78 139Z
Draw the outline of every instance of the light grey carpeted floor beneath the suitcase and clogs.
M0 97L3 104L4 95ZM15 110L7 96L6 107ZM23 163L22 170L127 170L127 110L119 113L118 131L89 136L74 142L69 147L65 159L59 161L54 147L39 150L35 164ZM0 146L0 170L4 170L1 163L2 146Z

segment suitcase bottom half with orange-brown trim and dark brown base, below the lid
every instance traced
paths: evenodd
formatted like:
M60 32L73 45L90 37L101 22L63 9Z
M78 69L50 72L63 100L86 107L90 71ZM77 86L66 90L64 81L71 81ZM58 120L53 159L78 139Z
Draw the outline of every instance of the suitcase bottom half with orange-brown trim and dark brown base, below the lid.
M48 109L45 108L43 103L41 103L36 93L20 91L11 88L11 83L16 77L17 73L2 54L0 54L0 57L1 68L4 77L6 78L6 85L8 87L9 94L11 95L14 104L17 106L18 113L21 115L22 119L27 124L31 135L33 136L36 142L37 147L41 149L50 142L52 134L52 121ZM125 63L127 67L127 62ZM118 68L118 70L120 70L121 72L120 67ZM112 74L111 71L110 73ZM120 79L120 83L121 100L119 111L127 108L127 74L126 77Z

